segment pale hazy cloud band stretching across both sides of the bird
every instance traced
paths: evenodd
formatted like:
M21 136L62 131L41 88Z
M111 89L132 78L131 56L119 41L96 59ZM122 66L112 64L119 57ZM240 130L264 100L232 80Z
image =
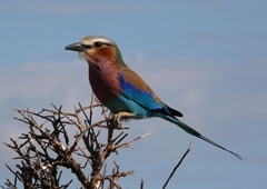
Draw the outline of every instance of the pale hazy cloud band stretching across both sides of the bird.
M214 127L216 119L222 125L224 120L241 119L244 115L253 115L250 118L264 115L267 109L266 90L247 92L246 88L244 89L246 86L238 86L243 82L244 74L246 78L255 77L258 73L256 71L236 73L229 71L233 68L224 64L210 66L179 59L168 60L166 63L142 54L126 58L126 62L166 103L181 110L185 120L191 121L195 126L207 128L210 126L209 129L214 132L216 128L224 130L217 123L217 127ZM235 80L229 83L231 78ZM233 84L234 82L236 83ZM17 106L42 108L49 106L49 102L72 109L78 101L82 103L90 101L88 66L83 60L68 63L50 61L4 68L0 70L0 86L2 89L0 106L8 109ZM239 89L233 93L233 87ZM248 103L249 100L253 102ZM253 111L249 112L250 110Z

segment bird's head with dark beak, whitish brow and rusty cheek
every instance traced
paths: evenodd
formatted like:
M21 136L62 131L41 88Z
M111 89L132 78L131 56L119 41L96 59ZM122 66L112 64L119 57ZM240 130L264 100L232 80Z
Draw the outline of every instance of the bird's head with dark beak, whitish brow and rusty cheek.
M121 66L125 64L117 44L106 37L87 36L80 42L67 46L65 50L78 51L80 57L85 58L89 63L99 62L99 60L116 60Z

